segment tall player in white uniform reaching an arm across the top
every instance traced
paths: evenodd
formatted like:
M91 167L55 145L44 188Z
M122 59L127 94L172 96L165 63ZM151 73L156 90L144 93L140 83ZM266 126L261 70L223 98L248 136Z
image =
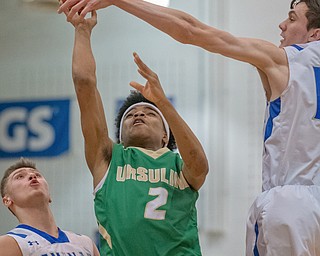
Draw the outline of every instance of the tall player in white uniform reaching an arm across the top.
M266 138L263 158L265 191L250 210L246 254L320 255L319 56L315 53L312 58L313 70L308 57L308 48L319 52L320 47L312 43L302 51L299 47L284 49L319 41L320 0L291 2L288 18L279 25L280 47L265 40L235 37L187 13L146 1L61 1L58 11L68 11L68 20L79 12L84 17L89 11L114 5L181 43L255 66L272 118L267 119L266 134L271 136Z

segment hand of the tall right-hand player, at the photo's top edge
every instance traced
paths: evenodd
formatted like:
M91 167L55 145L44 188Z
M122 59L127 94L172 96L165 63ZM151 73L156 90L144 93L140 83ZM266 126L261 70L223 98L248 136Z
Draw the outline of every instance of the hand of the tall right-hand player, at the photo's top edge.
M113 0L59 0L59 3L58 13L67 12L67 20L71 21L76 14L84 18L88 12L106 8Z

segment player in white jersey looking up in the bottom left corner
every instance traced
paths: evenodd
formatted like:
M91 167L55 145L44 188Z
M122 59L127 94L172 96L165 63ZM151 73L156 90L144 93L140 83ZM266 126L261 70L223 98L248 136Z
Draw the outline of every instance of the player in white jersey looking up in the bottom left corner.
M93 241L57 227L48 184L33 162L21 158L1 180L1 196L19 225L0 236L0 256L99 256Z

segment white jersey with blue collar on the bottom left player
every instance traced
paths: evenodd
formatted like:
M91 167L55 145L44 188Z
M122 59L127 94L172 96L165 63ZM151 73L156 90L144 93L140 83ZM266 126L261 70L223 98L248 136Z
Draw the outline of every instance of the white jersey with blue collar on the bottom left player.
M21 224L7 233L13 237L23 256L93 256L93 242L84 235L59 229L58 238Z

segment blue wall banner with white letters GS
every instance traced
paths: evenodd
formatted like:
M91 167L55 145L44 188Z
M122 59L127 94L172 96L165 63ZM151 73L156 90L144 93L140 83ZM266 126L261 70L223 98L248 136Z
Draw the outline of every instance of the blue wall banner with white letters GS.
M0 157L57 156L69 149L70 100L0 102Z

